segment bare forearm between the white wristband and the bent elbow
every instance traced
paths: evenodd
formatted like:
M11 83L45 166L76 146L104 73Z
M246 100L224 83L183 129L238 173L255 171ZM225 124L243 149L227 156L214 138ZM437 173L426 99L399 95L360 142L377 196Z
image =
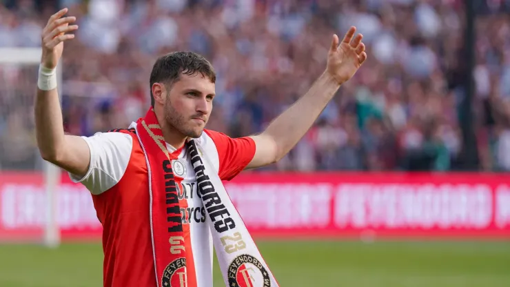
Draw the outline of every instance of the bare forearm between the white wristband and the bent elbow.
M57 159L59 147L65 141L62 111L57 89L37 89L35 98L35 128L41 156L53 161Z

